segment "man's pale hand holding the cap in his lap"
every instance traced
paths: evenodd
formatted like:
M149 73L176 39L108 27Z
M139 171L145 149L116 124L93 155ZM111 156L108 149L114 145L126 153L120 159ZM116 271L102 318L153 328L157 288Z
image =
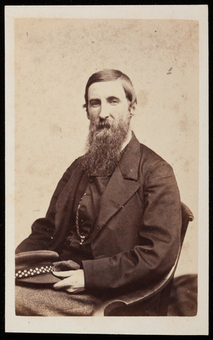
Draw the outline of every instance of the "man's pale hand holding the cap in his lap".
M67 290L69 293L82 292L85 289L84 270L68 270L67 272L53 272L53 275L64 278L60 282L55 283L53 288Z

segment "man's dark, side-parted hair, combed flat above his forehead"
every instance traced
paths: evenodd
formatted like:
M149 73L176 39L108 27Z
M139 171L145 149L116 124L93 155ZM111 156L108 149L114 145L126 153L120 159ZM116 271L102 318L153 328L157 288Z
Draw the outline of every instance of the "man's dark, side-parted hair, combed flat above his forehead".
M136 92L133 88L133 85L129 77L119 70L106 69L94 73L93 75L91 75L91 77L89 77L84 95L86 104L84 104L83 107L86 107L86 109L88 107L89 86L91 86L94 83L109 82L117 79L121 80L121 85L124 87L124 92L126 93L126 99L129 100L129 102L131 103L130 106L134 105L135 103L137 104Z

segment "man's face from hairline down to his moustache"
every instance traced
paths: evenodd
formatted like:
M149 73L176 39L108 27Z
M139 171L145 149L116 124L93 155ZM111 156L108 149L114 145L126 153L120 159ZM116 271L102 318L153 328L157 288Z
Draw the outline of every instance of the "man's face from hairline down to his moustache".
M129 119L129 104L120 80L94 83L88 90L87 117L99 128L118 126Z

